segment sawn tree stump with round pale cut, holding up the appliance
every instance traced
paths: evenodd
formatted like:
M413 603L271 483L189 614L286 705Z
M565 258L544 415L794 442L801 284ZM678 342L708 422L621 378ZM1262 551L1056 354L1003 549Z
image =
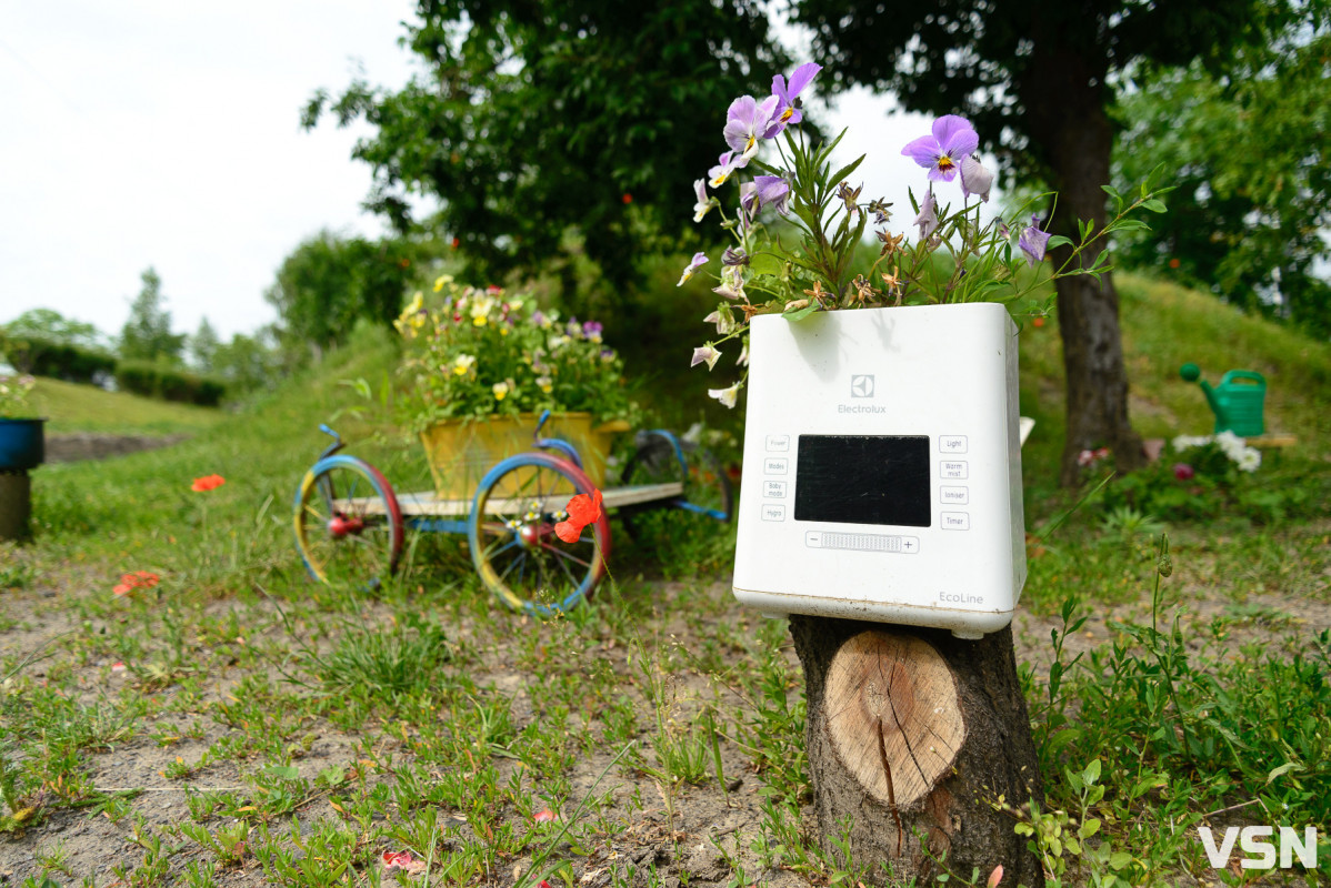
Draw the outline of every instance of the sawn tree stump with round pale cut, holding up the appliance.
M1044 800L1012 629L952 633L791 614L808 697L819 830L851 824L857 867L932 881L944 869L1045 884L996 806ZM938 861L942 861L941 864Z

